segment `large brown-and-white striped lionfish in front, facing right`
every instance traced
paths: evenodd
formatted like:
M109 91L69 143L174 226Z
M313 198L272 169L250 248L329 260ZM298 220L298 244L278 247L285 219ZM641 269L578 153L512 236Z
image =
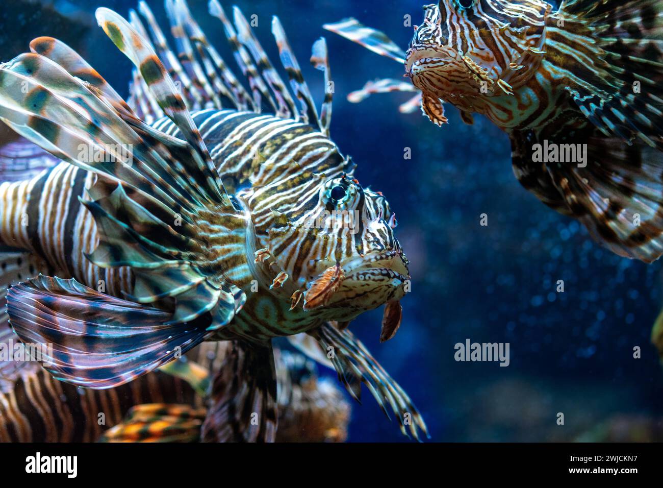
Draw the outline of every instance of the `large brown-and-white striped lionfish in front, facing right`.
M33 144L12 148L3 175L14 178L0 185L0 240L23 252L2 265L5 284L20 282L7 292L13 331L51 346L43 364L54 378L93 389L229 341L200 434L219 442L274 440L272 339L290 337L353 398L365 384L403 434L428 436L347 329L386 304L390 339L409 274L389 203L329 137L331 90L318 115L277 17L292 94L237 7L231 22L209 3L248 90L184 0L165 5L176 52L146 3L129 21L96 11L135 64L129 103L56 39L34 39L0 66L0 119ZM324 38L311 61L330 86ZM38 174L19 179L26 171Z

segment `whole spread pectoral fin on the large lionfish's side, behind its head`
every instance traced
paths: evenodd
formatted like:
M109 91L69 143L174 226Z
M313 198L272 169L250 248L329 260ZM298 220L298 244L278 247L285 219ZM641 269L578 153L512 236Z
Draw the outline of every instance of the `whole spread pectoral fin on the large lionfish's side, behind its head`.
M237 310L228 305L237 300L224 276L239 262L243 216L211 167L181 98L170 90L172 80L161 78L167 74L158 58L119 16L100 11L99 17L115 42L150 73L152 95L188 141L137 120L90 84L32 53L0 68L0 118L56 157L101 177L90 191L95 201L84 202L101 233L99 248L89 256L93 264L133 266L145 285L142 295L134 292L141 301L176 297L173 319L180 321L216 307L215 325L222 327ZM131 39L131 48L124 39ZM141 62L143 55L148 59ZM90 149L87 157L81 147ZM93 158L93 152L103 157ZM148 229L151 238L145 236ZM175 277L170 268L186 272Z

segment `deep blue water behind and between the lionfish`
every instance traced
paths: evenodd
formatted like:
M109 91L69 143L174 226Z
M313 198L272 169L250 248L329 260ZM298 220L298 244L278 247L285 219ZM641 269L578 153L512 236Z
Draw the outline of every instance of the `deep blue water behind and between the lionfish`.
M6 0L5 0L6 1ZM10 2L11 3L11 2ZM55 2L93 14L106 6L125 15L133 1ZM234 66L220 24L204 1L192 11ZM164 20L160 3L151 2ZM461 122L446 107L440 128L420 113L398 113L410 94L372 96L350 104L347 93L403 68L322 30L357 17L406 48L412 33L404 15L420 23L420 1L237 1L259 17L259 39L276 62L269 32L280 17L317 100L322 74L308 66L310 46L324 35L335 84L331 135L358 163L363 185L383 191L398 216L397 236L411 262L412 292L404 319L388 343L379 343L382 310L366 313L352 330L420 408L434 441L574 440L615 419L661 425L663 375L650 330L662 304L660 264L614 256L595 244L575 220L556 214L522 189L511 170L507 136L487 120ZM228 3L224 3L229 7ZM44 23L23 22L26 40L47 35ZM94 24L94 23L93 23ZM123 94L131 66L90 26L67 41ZM16 52L3 52L3 60ZM411 160L404 160L409 147ZM488 226L480 225L487 214ZM564 293L556 292L564 280ZM454 361L455 343L509 343L511 364ZM633 348L642 358L633 358ZM558 426L558 413L564 426ZM406 440L365 390L353 404L350 441Z

